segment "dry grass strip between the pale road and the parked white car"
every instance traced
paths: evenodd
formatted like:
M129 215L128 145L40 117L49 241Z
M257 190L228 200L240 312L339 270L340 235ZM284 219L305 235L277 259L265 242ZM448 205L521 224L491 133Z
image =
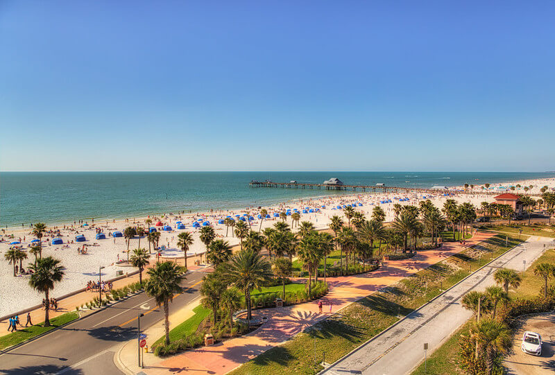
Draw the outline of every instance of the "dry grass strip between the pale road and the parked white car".
M522 283L518 289L509 290L509 296L511 298L529 298L538 295L544 281L533 274L533 268L535 268L538 263L542 262L554 263L555 249L547 250L542 256L540 256L540 258L532 263L531 267L524 272ZM424 363L420 363L412 374L460 374L461 369L459 369L457 363L459 359L459 343L463 340L463 338L461 338L461 334L464 333L468 335L468 329L474 321L474 317L468 320L468 322L466 322L461 329L456 331L446 342L443 343L443 345L441 345L441 347L428 357L427 372L424 371Z

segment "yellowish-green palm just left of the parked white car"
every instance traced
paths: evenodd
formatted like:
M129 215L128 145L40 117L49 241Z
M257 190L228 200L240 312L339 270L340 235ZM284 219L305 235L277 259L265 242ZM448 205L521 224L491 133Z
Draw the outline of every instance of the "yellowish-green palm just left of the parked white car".
M470 329L470 337L476 342L476 354L482 352L486 355L488 374L493 372L498 353L506 353L511 348L511 336L506 324L490 319L481 320Z

